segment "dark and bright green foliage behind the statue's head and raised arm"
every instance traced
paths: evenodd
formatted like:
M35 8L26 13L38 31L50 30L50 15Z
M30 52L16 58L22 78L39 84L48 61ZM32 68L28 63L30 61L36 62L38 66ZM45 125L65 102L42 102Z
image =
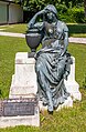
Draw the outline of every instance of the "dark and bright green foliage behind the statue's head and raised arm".
M21 1L24 9L24 21L29 20L47 4L54 4L60 19L66 22L85 22L84 0L15 0Z

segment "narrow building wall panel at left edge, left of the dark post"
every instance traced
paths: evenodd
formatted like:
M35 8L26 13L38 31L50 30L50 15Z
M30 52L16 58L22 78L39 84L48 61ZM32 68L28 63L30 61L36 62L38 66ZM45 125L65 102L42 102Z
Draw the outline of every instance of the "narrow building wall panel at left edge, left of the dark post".
M8 3L1 2L0 1L0 24L1 23L7 23L8 21Z

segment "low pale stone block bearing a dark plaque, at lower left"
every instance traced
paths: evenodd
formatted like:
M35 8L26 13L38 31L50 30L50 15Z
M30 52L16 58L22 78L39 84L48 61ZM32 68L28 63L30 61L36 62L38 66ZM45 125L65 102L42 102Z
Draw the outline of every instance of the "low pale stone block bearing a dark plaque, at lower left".
M0 101L0 128L15 125L40 126L40 111L34 98Z

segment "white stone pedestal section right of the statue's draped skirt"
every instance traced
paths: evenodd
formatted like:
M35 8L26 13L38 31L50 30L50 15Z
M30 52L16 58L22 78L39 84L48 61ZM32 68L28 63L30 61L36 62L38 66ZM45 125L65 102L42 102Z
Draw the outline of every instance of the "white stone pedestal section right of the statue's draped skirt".
M71 64L71 73L67 81L65 81L66 90L71 93L73 100L82 100L82 94L79 92L79 84L75 81L75 58L72 57L73 64Z

